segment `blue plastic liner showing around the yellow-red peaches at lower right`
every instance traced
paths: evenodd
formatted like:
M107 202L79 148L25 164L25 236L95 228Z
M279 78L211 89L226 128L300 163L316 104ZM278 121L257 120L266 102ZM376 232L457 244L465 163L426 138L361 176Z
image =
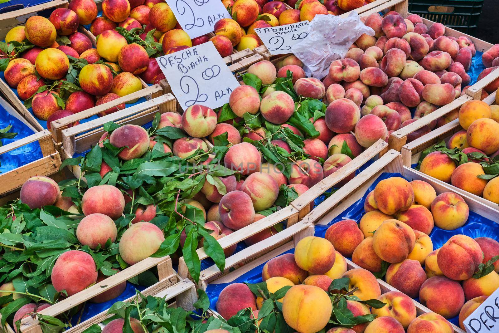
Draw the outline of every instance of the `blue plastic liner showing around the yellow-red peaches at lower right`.
M367 197L367 194L374 190L376 185L383 179L387 179L390 177L402 177L401 174L399 173L382 173L376 181L369 187L369 190L366 191L364 196L356 201L354 204L352 204L350 207L345 209L341 214L338 215L334 220L332 220L330 223L327 225L315 225L315 236L318 237L324 237L327 228L331 226L332 224L342 221L344 219L350 219L354 220L356 222L359 222L360 218L362 215L364 215L364 201L365 198ZM431 234L430 238L433 242L433 249L439 249L441 248L448 240L454 235L466 235L471 238L477 238L477 237L490 237L493 238L497 241L499 241L499 225L487 218L484 218L480 216L479 214L470 211L470 215L468 217L468 221L466 224L458 228L456 230L443 230L438 227L434 227ZM285 253L294 253L294 249L291 249ZM348 258L350 259L350 258ZM248 282L248 283L258 283L261 282L261 271L263 269L264 264L252 269L250 272L245 273L241 277L237 278L235 281L232 283L243 283L243 282ZM220 292L230 285L231 283L226 283L226 284L209 284L206 293L208 294L210 298L210 305L212 309L216 309L216 303L218 301L218 297L220 295ZM415 299L417 302L419 302L419 299ZM449 319L449 321L455 325L459 325L458 323L458 316L455 318Z

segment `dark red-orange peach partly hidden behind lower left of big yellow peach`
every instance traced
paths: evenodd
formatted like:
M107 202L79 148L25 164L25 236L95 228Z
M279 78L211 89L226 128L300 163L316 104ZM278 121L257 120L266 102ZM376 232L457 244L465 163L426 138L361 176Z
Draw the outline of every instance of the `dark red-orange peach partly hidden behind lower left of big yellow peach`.
M301 284L307 276L308 273L296 264L294 254L292 253L270 259L265 263L261 271L263 281L272 277L283 277L295 285Z

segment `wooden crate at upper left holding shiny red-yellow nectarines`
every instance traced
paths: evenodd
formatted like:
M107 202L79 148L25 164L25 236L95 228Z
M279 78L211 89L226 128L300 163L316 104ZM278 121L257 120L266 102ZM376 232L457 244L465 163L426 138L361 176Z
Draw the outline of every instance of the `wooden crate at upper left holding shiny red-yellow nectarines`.
M100 10L102 1L96 1L97 7ZM60 7L67 7L69 4L68 0L53 0L47 3L39 4L36 6L28 7L28 8L23 8L19 10L14 10L10 11L4 14L0 14L0 34L1 38L0 40L3 40L5 38L5 34L14 26L18 25L23 25L26 20L30 16L34 16L37 14L44 14L45 16L49 15L55 8L60 8ZM48 16L47 16L48 17ZM95 36L92 35L90 31L85 29L84 26L80 25L78 27L78 31L82 32L85 34L90 41L92 42L93 47L95 47ZM134 92L132 94L126 95L121 97L120 99L123 101L130 101L134 98L137 97L145 97L146 99L151 99L157 96L160 96L163 94L163 90L160 89L158 86L153 85L150 87L147 83L145 83L140 77L139 80L141 81L142 88L141 90ZM154 88L153 88L154 87ZM151 89L148 89L151 88ZM10 102L10 104L19 112L20 115L22 115L30 124L33 126L37 131L42 131L45 128L38 122L36 117L26 109L24 106L23 102L17 97L17 95L14 93L14 91L4 82L3 80L0 80L0 92L5 96L5 98ZM131 96L135 96L132 98ZM114 102L114 101L113 101ZM112 106L113 103L106 103L108 106ZM104 104L102 104L104 105ZM62 118L61 121L58 123L64 123L65 125L74 122L74 121L81 121L82 119L86 119L90 116L93 116L97 114L98 112L92 113L90 110L96 110L100 109L98 107L94 107L91 109L86 110L85 112L79 112L75 114L74 116L68 116L65 118ZM105 110L105 109L101 109ZM118 111L119 112L119 111ZM72 119L71 122L69 121L62 121L63 119ZM64 128L64 126L62 126ZM59 129L60 131L60 129ZM54 134L54 140L56 140L57 143L60 142L60 133L54 132L52 130L52 133Z

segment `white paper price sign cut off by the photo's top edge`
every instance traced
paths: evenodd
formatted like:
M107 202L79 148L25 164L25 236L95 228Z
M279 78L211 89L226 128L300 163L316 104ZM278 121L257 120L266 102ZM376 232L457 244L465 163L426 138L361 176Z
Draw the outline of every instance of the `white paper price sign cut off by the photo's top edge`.
M220 0L166 0L177 21L189 37L196 38L213 31L222 18L232 18Z

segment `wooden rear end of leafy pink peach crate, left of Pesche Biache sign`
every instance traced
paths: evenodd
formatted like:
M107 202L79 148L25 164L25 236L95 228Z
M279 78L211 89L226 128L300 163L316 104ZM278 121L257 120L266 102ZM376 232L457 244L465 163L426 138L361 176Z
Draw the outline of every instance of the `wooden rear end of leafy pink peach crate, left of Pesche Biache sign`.
M176 112L176 110L177 101L175 97L166 94L130 106L120 112L111 113L84 124L63 129L61 131L63 158L73 157L75 153L83 153L95 146L99 138L104 134L103 125L109 121L118 124L144 125L152 121L157 112Z

